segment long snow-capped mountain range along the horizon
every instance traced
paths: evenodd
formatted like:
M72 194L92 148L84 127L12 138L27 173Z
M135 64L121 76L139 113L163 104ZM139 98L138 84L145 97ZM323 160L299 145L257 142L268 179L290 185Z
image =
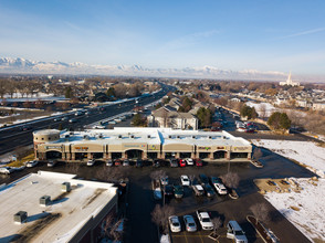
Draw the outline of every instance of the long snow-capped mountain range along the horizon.
M140 65L87 65L84 63L40 62L21 57L0 57L0 73L21 74L98 74L189 78L227 80L270 80L282 81L286 74L281 72L260 72L256 70L231 71L214 66L185 68L146 68Z

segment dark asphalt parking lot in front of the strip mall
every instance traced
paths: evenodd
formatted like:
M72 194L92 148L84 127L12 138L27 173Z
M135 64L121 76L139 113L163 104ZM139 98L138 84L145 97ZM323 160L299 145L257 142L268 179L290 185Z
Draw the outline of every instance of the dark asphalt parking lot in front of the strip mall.
M294 228L280 212L277 212L260 193L253 183L255 178L286 178L286 177L312 177L314 176L308 170L293 163L292 161L281 157L272 151L262 149L263 157L261 161L264 168L258 169L251 163L231 163L230 171L237 172L240 177L238 193L240 198L232 200L228 196L216 196L212 199L196 197L192 190L185 189L182 199L171 197L166 200L166 203L175 209L175 214L182 216L185 214L195 215L197 210L205 210L211 213L211 218L220 216L222 229L218 231L220 234L219 242L231 242L226 237L226 224L229 220L235 220L241 225L249 242L263 242L258 235L245 216L250 214L249 208L258 202L265 202L272 209L272 220L266 224L272 229L281 242L310 242L296 228ZM96 180L98 171L103 170L105 165L97 162L94 167L81 165L76 171L77 176L88 180ZM126 210L126 231L125 242L158 242L157 226L151 221L150 213L157 203L162 204L162 200L156 201L153 197L150 173L155 170L164 170L169 177L170 183L180 183L180 176L195 175L197 178L200 173L208 177L220 177L228 171L228 163L205 163L203 167L185 167L185 168L153 168L146 166L143 168L124 168L129 178L129 191L127 194ZM38 170L53 170L60 172L71 172L69 166L59 165L54 168L48 168L45 165L39 165L34 168L28 168L23 171L18 171L9 176L1 176L1 183L15 180L29 172ZM182 220L181 220L182 222ZM184 223L182 223L184 224ZM197 222L197 224L199 224ZM180 233L171 233L174 243L178 242L213 242L208 237L210 231L199 230L196 233L187 233L182 225Z

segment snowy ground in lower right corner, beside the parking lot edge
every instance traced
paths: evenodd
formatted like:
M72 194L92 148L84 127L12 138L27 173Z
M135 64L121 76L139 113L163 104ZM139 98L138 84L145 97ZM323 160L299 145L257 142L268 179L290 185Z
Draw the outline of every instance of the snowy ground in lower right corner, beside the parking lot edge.
M317 186L308 179L295 180L303 188L300 193L269 192L265 198L312 241L325 241L325 179L319 179Z

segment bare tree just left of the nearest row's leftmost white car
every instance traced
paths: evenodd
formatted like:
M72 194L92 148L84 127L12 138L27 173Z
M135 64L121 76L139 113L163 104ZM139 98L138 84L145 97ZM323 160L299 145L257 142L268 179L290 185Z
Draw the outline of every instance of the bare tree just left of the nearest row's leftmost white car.
M157 204L151 212L153 222L161 228L164 233L168 231L168 216L174 214L174 208L170 205L160 207Z

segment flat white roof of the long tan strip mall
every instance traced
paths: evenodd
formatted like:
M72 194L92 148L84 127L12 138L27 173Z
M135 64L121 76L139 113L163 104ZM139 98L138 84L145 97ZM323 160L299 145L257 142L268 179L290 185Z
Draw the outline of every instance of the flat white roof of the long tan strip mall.
M69 135L69 139L65 136ZM251 144L231 134L221 131L180 130L171 128L115 127L114 129L88 129L85 131L63 133L56 141L49 144L132 144L149 145L188 144L196 146L250 146Z

